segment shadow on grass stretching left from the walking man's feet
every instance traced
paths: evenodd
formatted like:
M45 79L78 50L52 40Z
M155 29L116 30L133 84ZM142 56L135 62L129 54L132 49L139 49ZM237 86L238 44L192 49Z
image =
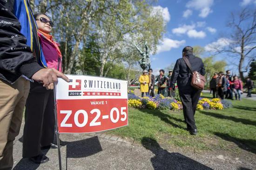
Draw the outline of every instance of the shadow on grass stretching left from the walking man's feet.
M165 123L168 123L168 124L171 124L172 126L176 127L176 128L180 128L180 129L184 129L186 130L186 128L183 128L182 126L178 125L178 124L175 124L173 123L172 121L170 121L169 119L173 119L175 121L178 121L178 122L182 122L185 124L184 121L182 121L181 119L178 119L178 118L173 118L171 117L170 115L166 114L166 113L163 113L159 110L148 110L148 109L141 109L140 111L144 112L144 113L148 113L148 114L152 114L154 116L157 116L159 118L161 118L162 121L164 121Z

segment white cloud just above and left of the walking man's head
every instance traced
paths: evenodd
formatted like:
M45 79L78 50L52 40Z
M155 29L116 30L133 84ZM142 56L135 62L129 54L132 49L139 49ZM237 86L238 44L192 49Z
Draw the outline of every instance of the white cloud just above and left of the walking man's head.
M179 48L185 43L186 43L185 40L178 41L178 40L164 38L161 44L157 46L156 53L170 51L172 48Z

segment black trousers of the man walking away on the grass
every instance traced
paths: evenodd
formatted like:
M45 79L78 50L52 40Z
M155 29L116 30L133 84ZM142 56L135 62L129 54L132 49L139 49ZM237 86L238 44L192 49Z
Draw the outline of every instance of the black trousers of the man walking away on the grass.
M195 109L200 98L201 90L196 90L195 88L184 88L179 89L180 98L182 100L183 115L185 122L187 124L188 130L196 129L195 125Z

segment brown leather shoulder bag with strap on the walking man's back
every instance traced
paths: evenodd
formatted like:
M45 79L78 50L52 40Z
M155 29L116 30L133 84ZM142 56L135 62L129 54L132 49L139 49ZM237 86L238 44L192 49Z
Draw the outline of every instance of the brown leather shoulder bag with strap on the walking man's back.
M192 69L192 66L189 62L189 59L186 57L182 57L187 66L189 67L190 72L192 73L191 83L190 85L198 90L203 90L204 84L205 84L205 78L199 72L194 71Z

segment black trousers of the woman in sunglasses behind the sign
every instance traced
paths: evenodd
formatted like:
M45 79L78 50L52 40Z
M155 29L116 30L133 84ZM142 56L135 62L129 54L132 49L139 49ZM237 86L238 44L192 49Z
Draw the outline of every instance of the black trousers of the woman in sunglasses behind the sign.
M54 91L31 83L25 111L22 157L34 157L54 141Z

